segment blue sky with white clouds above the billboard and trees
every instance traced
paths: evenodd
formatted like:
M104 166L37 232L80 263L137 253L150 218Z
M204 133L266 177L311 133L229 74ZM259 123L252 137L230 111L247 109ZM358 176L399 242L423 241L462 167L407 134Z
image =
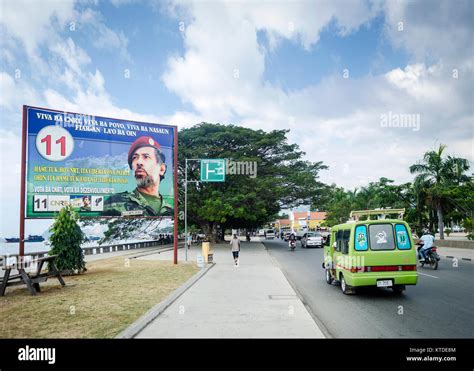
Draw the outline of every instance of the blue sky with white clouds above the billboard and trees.
M18 235L24 104L290 129L347 189L411 181L440 143L474 160L472 1L0 4L0 236Z

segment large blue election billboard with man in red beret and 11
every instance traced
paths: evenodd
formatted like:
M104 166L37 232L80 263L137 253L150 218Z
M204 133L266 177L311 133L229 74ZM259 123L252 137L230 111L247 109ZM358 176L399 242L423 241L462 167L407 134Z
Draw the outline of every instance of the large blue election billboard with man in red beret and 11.
M174 216L176 127L26 106L26 218ZM24 123L25 125L25 123Z

